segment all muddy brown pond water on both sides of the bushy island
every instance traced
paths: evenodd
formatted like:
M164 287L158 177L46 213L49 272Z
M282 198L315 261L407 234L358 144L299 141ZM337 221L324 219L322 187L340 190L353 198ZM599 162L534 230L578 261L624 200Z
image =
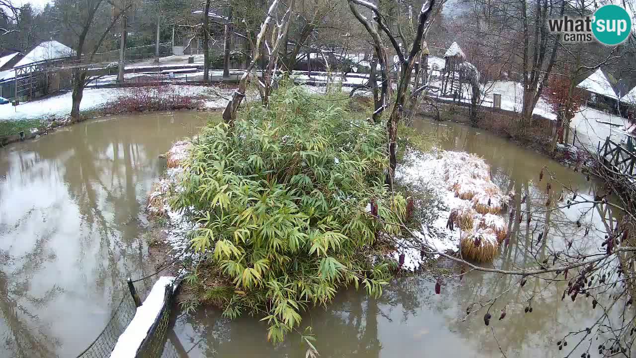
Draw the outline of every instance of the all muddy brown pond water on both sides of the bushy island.
M191 112L111 117L0 150L0 335L6 347L0 357L74 357L106 324L125 294L125 278L153 272L142 211L163 170L158 155L204 122L205 115ZM538 178L544 164L585 195L598 186L485 131L448 122L415 126L443 148L483 156L502 189L530 193L524 205L544 201L545 179ZM598 244L582 238L572 220L583 215L601 230L604 220L581 211L554 213L551 240L542 245L534 242L544 217L515 223L511 245L495 265L522 266L530 261L529 247L541 257L562 247L564 237L593 249ZM602 231L589 236L598 235ZM585 299L562 303L561 287L541 290L541 282L530 280L520 290L510 283L473 272L446 280L436 295L428 276L396 278L380 299L344 290L328 307L306 313L304 322L312 325L322 357L501 357L500 347L508 357L558 357L556 341L595 320ZM539 293L526 314L530 289ZM495 334L484 326L483 311L464 319L469 303L491 296L501 296L490 323ZM504 305L508 315L497 321ZM306 349L297 334L272 345L258 319L230 321L212 308L177 313L166 347L170 357L305 357Z

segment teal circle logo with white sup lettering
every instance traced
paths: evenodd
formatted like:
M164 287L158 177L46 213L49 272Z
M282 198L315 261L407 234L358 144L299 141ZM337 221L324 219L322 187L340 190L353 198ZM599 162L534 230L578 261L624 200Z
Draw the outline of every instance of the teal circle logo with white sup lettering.
M592 23L595 38L604 45L619 45L632 32L632 18L624 8L618 5L605 5L598 8Z

